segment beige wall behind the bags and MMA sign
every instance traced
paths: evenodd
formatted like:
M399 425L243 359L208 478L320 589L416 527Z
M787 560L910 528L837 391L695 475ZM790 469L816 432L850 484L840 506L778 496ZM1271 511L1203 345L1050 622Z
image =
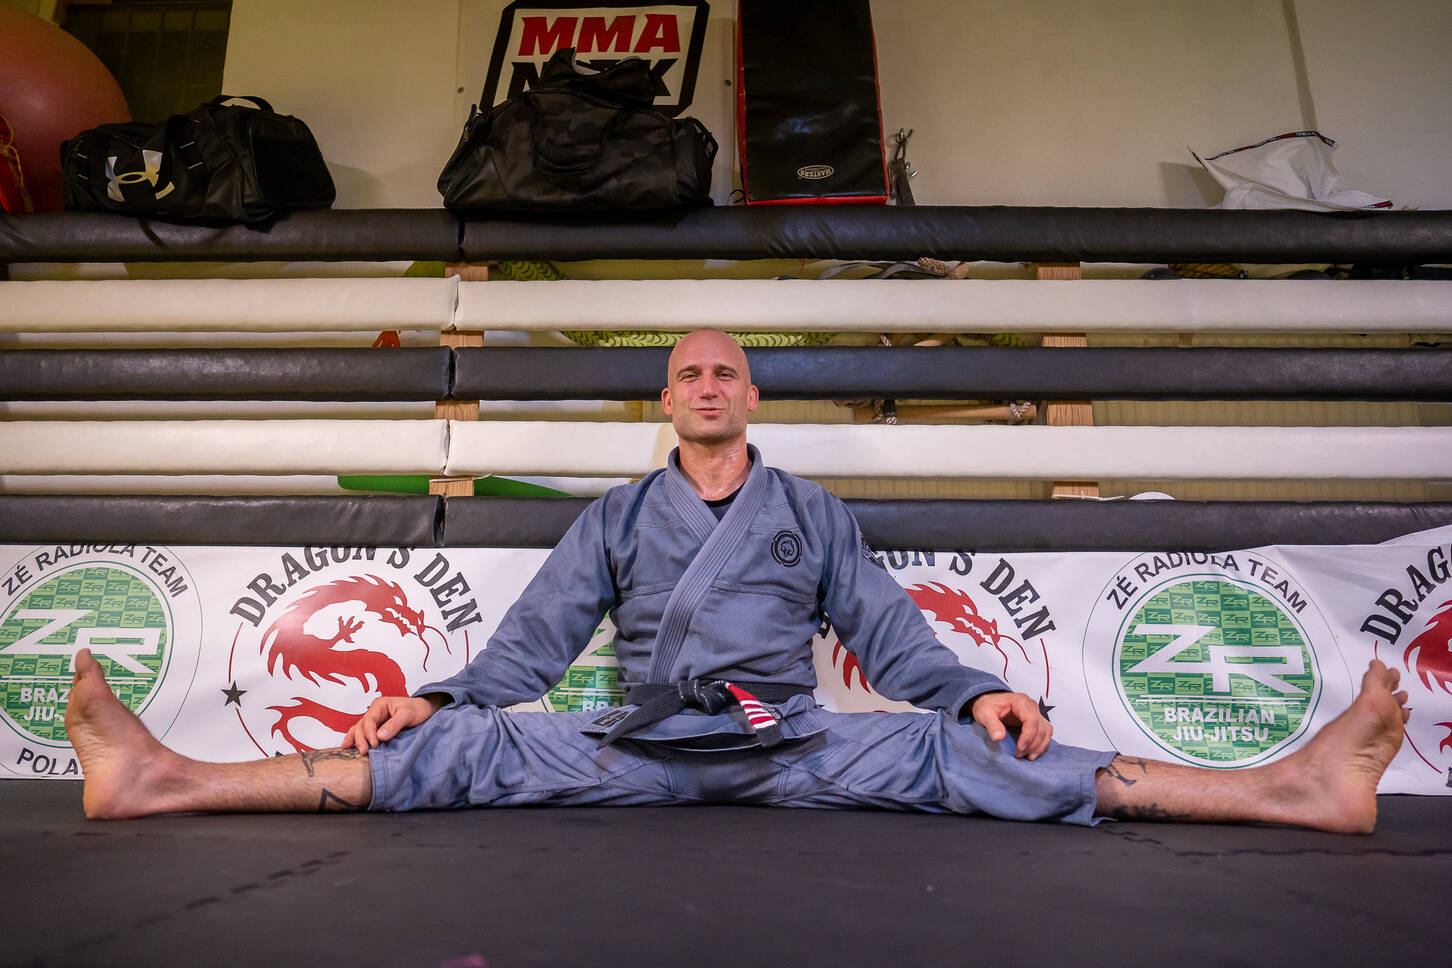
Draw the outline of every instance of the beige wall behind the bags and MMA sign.
M235 0L229 93L318 135L341 208L434 206L504 0ZM1304 70L1288 32L1300 25ZM717 0L693 113L729 192L735 3ZM1346 187L1452 209L1443 0L876 0L889 132L921 205L1214 203L1186 145L1316 120ZM1304 80L1304 86L1298 84Z

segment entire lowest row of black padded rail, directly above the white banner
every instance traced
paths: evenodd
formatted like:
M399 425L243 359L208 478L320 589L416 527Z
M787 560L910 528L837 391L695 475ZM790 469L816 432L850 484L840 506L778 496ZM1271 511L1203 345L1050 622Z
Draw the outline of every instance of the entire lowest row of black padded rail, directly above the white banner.
M0 495L0 544L553 547L588 498ZM1452 502L848 501L878 549L1215 551L1375 544L1452 524Z

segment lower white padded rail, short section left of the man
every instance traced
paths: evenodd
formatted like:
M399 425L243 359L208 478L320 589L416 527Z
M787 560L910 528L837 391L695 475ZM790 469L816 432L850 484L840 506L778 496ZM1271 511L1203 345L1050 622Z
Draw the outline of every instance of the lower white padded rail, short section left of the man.
M437 475L441 419L7 421L6 475Z

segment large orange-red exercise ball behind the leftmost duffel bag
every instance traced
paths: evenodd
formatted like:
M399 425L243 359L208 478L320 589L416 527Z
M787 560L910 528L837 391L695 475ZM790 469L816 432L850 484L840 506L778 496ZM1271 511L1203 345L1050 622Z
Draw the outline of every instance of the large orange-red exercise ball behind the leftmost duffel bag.
M61 209L62 141L96 125L131 120L116 78L84 44L12 7L0 7L0 115L36 212Z

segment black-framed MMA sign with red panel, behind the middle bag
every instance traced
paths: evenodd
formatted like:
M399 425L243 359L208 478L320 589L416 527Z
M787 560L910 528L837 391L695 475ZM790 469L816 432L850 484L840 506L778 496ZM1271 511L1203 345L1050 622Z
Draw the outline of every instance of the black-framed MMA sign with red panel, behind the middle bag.
M604 70L627 57L650 64L655 109L677 115L690 106L710 4L694 3L515 3L504 7L489 57L481 110L529 90L550 55L575 49L584 67Z

